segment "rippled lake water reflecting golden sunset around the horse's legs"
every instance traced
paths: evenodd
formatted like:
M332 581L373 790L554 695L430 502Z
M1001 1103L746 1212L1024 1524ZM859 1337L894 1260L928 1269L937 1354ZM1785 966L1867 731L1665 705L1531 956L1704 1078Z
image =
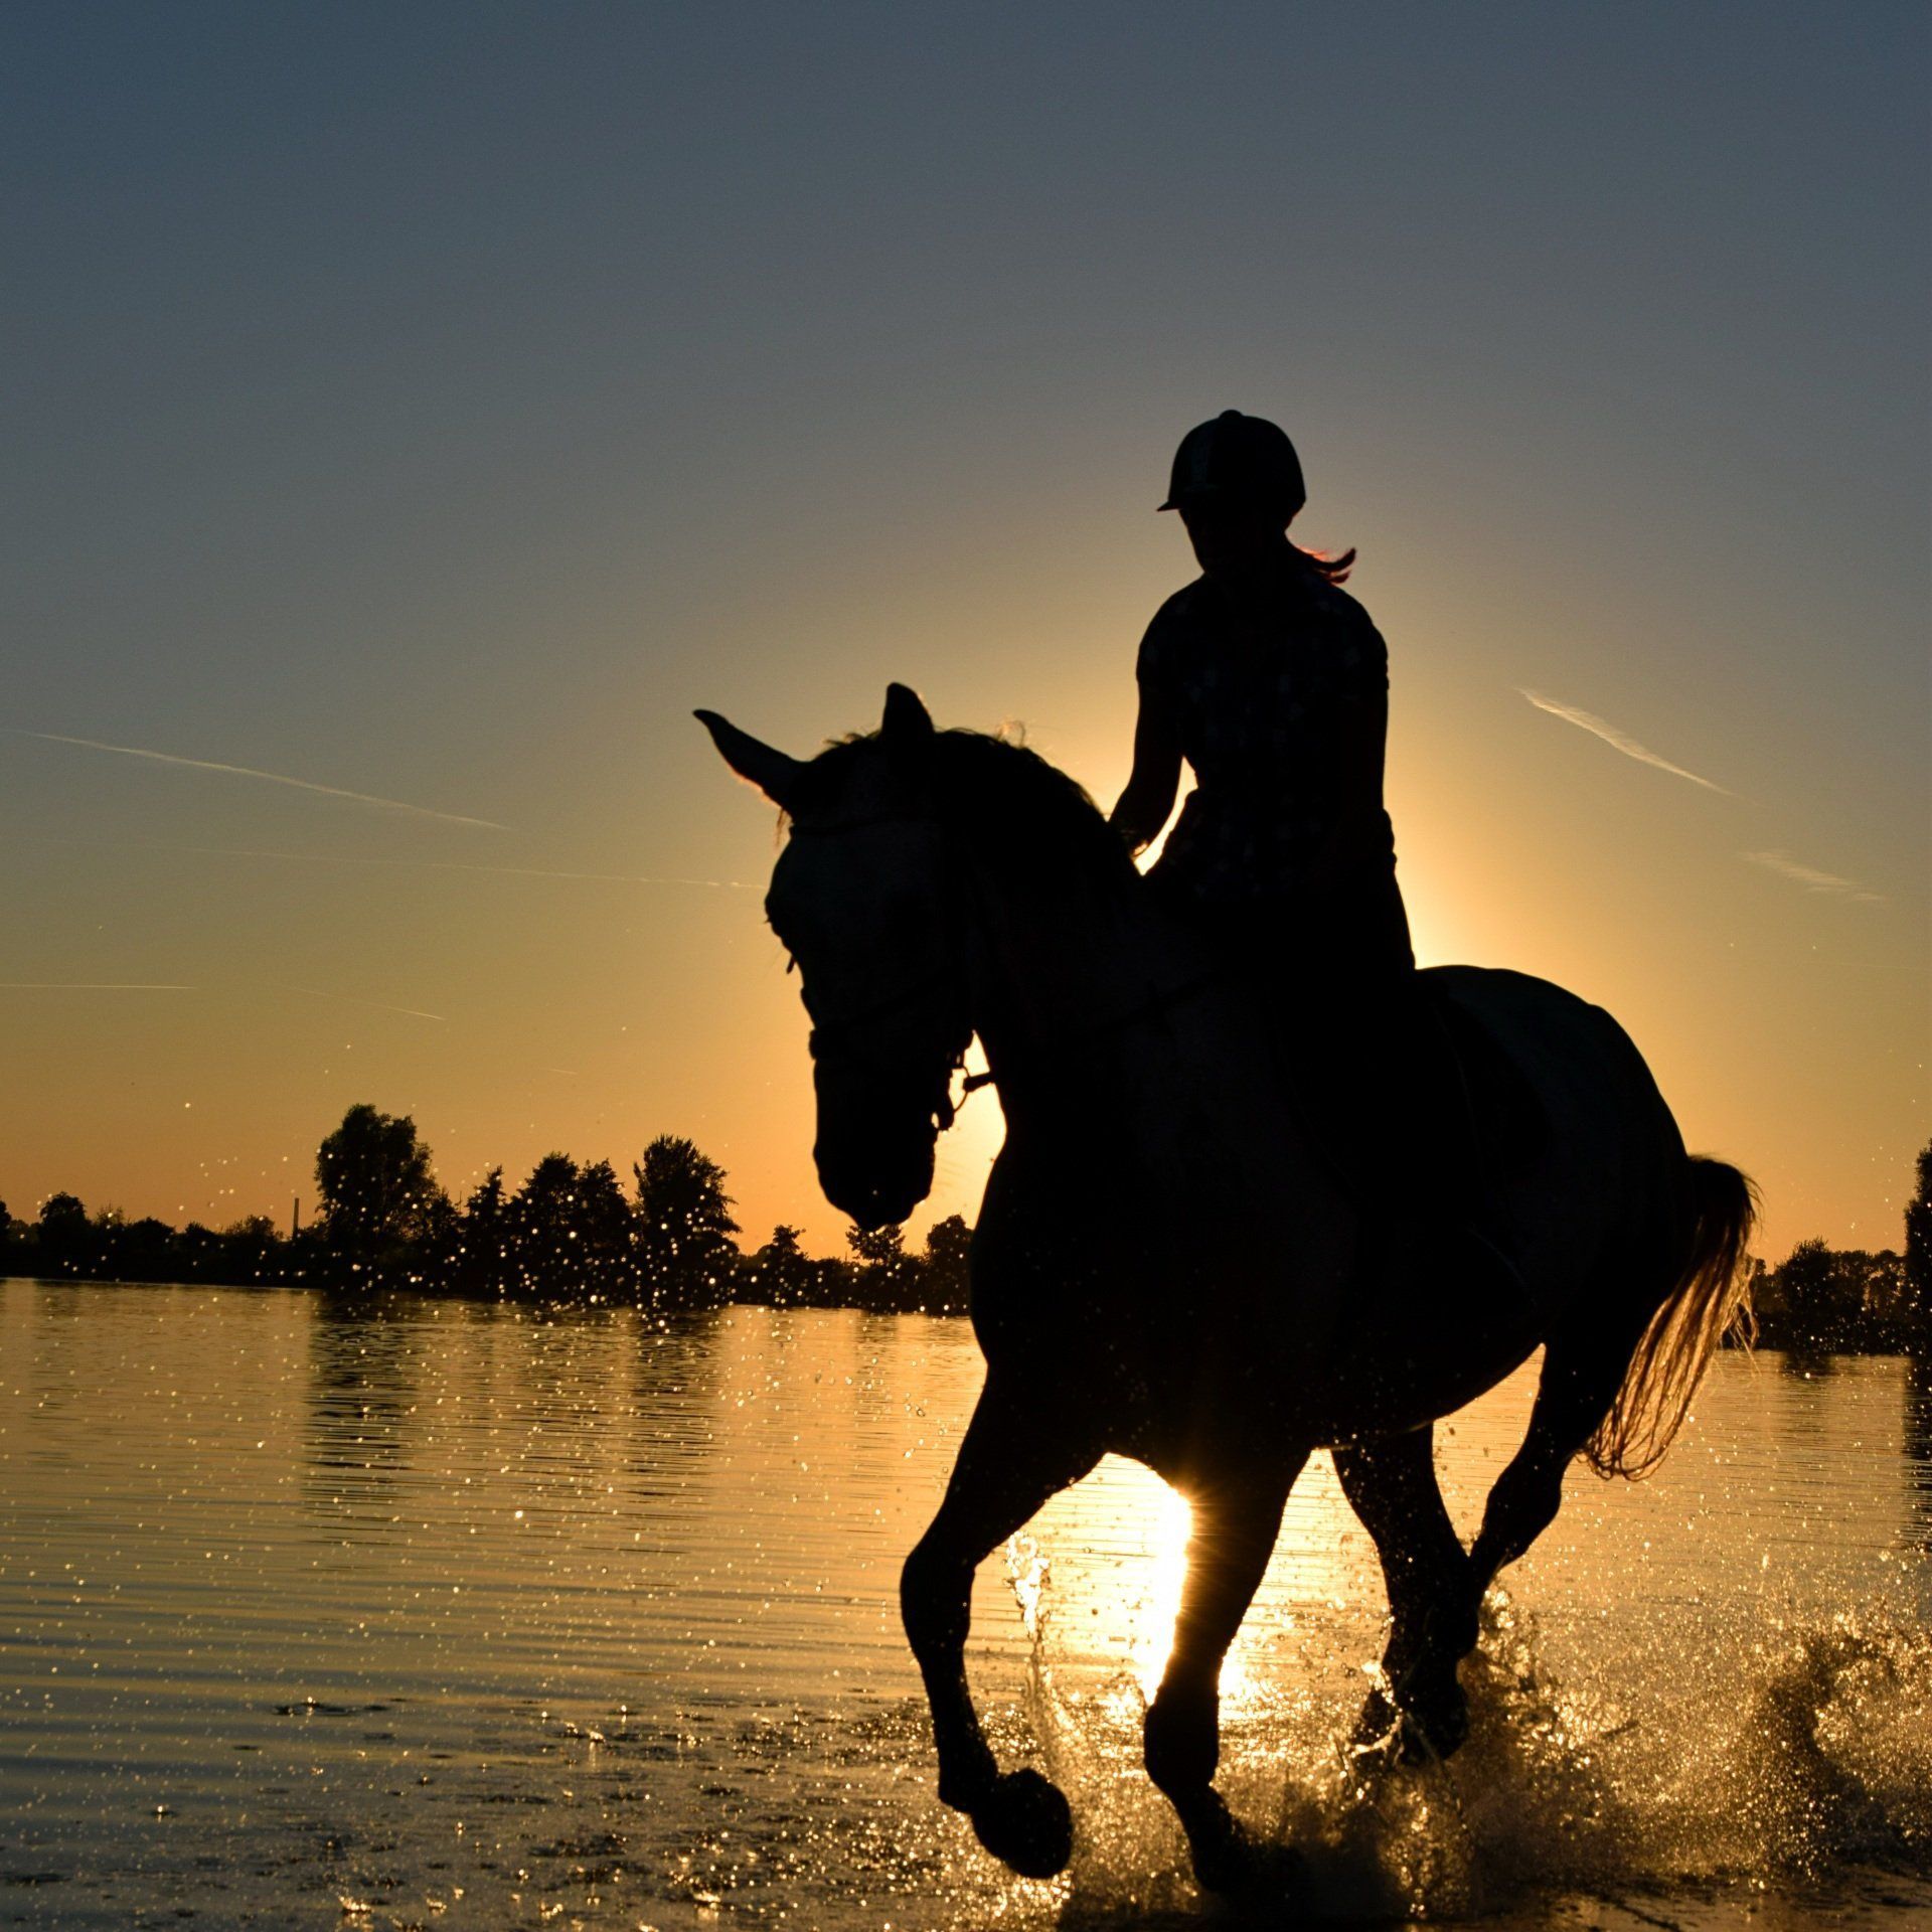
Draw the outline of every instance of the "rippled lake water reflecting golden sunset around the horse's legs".
M1128 1464L976 1594L1070 1872L937 1804L896 1569L978 1374L918 1318L0 1285L0 1924L1285 1922L1200 1901L1140 1774L1186 1511ZM1441 1434L1464 1528L1526 1401ZM1381 1586L1318 1461L1223 1787L1304 1917L1932 1924L1928 1551L1926 1370L1727 1356L1660 1478L1573 1472L1463 1754L1364 1781Z

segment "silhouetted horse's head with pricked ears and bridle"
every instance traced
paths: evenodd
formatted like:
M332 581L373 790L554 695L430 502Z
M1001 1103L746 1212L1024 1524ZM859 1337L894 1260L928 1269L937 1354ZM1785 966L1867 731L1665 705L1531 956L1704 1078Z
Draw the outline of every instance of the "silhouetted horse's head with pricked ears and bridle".
M811 1014L819 1186L860 1227L904 1221L931 1192L952 1068L972 1039L933 721L895 684L877 736L808 761L715 711L697 717L792 821L765 914Z

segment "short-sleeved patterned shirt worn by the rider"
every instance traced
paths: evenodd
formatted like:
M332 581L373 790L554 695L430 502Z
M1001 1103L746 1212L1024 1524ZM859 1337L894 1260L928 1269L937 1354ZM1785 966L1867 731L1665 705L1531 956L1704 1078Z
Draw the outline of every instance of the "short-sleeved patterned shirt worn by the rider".
M1202 900L1298 896L1318 867L1333 885L1395 866L1381 810L1389 651L1347 591L1302 576L1265 630L1196 578L1161 605L1140 645L1142 703L1165 707L1196 779L1155 869ZM1372 788L1337 761L1337 723L1356 703L1376 724ZM1347 804L1366 796L1372 810Z

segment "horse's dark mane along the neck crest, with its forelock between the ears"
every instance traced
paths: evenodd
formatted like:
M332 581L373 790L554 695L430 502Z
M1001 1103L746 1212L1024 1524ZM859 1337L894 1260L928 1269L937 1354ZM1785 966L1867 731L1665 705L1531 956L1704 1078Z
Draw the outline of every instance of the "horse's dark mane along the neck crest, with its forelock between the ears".
M829 744L804 773L800 804L831 804L854 765L879 757L879 732L854 732ZM1138 881L1134 862L1086 786L1037 752L980 730L933 732L927 746L933 813L974 838L1003 864L1065 875L1084 873L1107 885Z

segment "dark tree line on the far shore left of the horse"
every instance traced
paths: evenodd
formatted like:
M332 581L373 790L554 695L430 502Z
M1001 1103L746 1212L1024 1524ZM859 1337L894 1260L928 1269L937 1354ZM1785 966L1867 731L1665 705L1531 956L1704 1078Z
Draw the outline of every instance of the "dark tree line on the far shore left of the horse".
M373 1293L408 1287L529 1302L653 1310L767 1302L964 1314L970 1229L939 1221L923 1252L896 1227L846 1236L817 1258L796 1227L738 1244L724 1169L690 1140L661 1134L626 1186L609 1161L547 1153L522 1186L493 1167L464 1200L435 1175L410 1115L355 1105L315 1153L317 1215L282 1233L265 1215L209 1229L89 1213L52 1194L33 1221L0 1204L0 1275L87 1281L207 1281Z

